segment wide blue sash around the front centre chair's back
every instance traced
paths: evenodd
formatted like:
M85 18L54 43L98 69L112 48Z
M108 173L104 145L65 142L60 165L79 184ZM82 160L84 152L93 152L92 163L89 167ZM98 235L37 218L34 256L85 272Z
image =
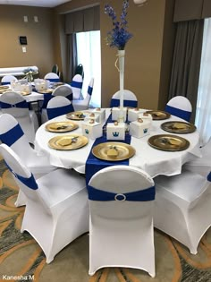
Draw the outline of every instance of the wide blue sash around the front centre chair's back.
M152 186L135 192L115 193L88 185L88 194L91 201L154 201L156 189Z

